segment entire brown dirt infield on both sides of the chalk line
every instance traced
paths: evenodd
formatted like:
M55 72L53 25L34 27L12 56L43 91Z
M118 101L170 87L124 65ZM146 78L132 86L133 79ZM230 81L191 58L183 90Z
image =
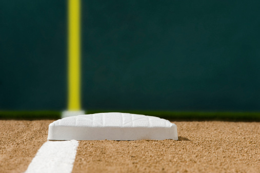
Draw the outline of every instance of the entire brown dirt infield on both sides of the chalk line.
M42 121L0 121L0 172L23 172L47 141ZM178 141L80 141L72 172L260 172L259 122L173 122Z

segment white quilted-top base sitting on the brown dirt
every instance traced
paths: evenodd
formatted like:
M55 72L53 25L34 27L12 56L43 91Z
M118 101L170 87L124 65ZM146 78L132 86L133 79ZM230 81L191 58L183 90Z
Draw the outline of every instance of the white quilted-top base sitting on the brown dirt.
M130 113L95 113L67 117L49 125L48 140L178 140L168 120Z

